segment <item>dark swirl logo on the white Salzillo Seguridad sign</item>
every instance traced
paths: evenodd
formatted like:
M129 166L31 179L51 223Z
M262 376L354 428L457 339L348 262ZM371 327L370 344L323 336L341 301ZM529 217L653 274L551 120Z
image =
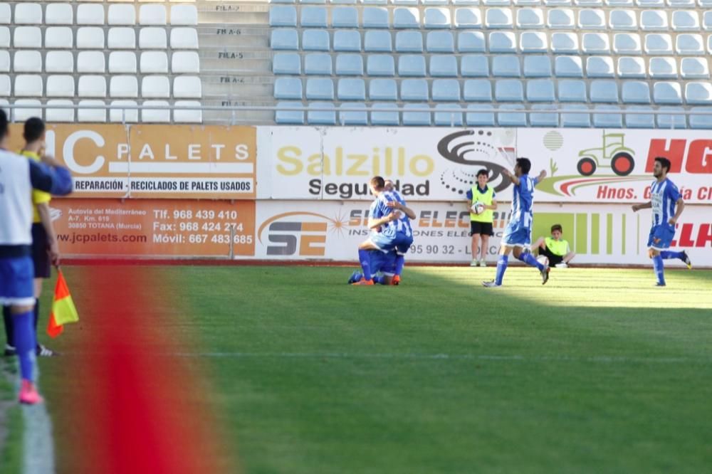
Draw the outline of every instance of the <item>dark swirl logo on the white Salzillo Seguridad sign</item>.
M489 182L495 191L507 189L511 179L503 171L508 162L513 166L514 149L497 146L495 139L493 132L486 130L463 130L441 139L441 157L460 165L441 173L440 182L445 189L464 195L477 182L477 172L482 168L490 172Z

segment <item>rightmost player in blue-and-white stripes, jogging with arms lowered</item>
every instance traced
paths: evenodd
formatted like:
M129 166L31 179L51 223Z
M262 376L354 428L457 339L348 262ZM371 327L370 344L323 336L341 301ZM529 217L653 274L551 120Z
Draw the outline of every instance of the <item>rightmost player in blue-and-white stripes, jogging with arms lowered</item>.
M657 277L656 286L665 286L663 260L679 258L687 268L692 268L692 262L686 251L672 252L670 243L675 236L675 224L685 209L677 186L668 179L670 160L657 157L653 166L655 181L650 186L650 201L645 204L633 204L633 211L640 209L653 209L653 222L648 236L648 256L653 260L653 269Z

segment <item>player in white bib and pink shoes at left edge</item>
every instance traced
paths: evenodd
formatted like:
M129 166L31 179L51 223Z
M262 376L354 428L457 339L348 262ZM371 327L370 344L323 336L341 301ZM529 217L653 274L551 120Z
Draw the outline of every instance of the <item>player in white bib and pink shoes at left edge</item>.
M69 194L72 178L51 157L43 163L7 151L9 137L7 116L0 110L0 305L9 305L14 318L13 332L20 359L21 388L19 401L42 401L34 386L35 304L31 258L32 189L51 194Z

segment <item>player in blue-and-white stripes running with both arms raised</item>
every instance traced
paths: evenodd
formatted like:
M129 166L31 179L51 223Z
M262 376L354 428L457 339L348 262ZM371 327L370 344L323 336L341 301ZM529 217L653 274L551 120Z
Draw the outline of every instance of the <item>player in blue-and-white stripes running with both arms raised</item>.
M514 195L512 198L512 215L507 224L502 237L502 246L497 260L497 273L492 281L483 281L482 285L488 288L502 285L504 272L507 270L509 254L514 253L515 258L539 269L541 273L541 284L545 285L549 280L549 266L539 263L537 259L528 251L531 245L532 223L534 215L532 207L534 204L534 186L546 177L546 172L542 170L536 178L529 177L529 170L532 164L527 158L517 158L514 167L514 174L505 170L505 174L514 184Z

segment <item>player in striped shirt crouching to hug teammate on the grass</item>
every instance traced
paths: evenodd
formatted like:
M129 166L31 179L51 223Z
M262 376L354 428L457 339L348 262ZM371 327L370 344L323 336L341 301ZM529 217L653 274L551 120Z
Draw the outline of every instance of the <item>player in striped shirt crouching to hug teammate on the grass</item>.
M399 206L405 206L404 201L402 199L397 201L397 197L392 191L384 189L385 180L382 177L373 177L369 183L369 188L371 194L376 198L371 204L368 218L368 227L372 230L372 233L358 247L363 278L354 283L354 285L374 284L371 278L368 251L379 250L387 253L395 249L397 253L404 255L413 243L413 230L407 214L388 206L389 202L397 202ZM395 206L395 204L392 206Z

